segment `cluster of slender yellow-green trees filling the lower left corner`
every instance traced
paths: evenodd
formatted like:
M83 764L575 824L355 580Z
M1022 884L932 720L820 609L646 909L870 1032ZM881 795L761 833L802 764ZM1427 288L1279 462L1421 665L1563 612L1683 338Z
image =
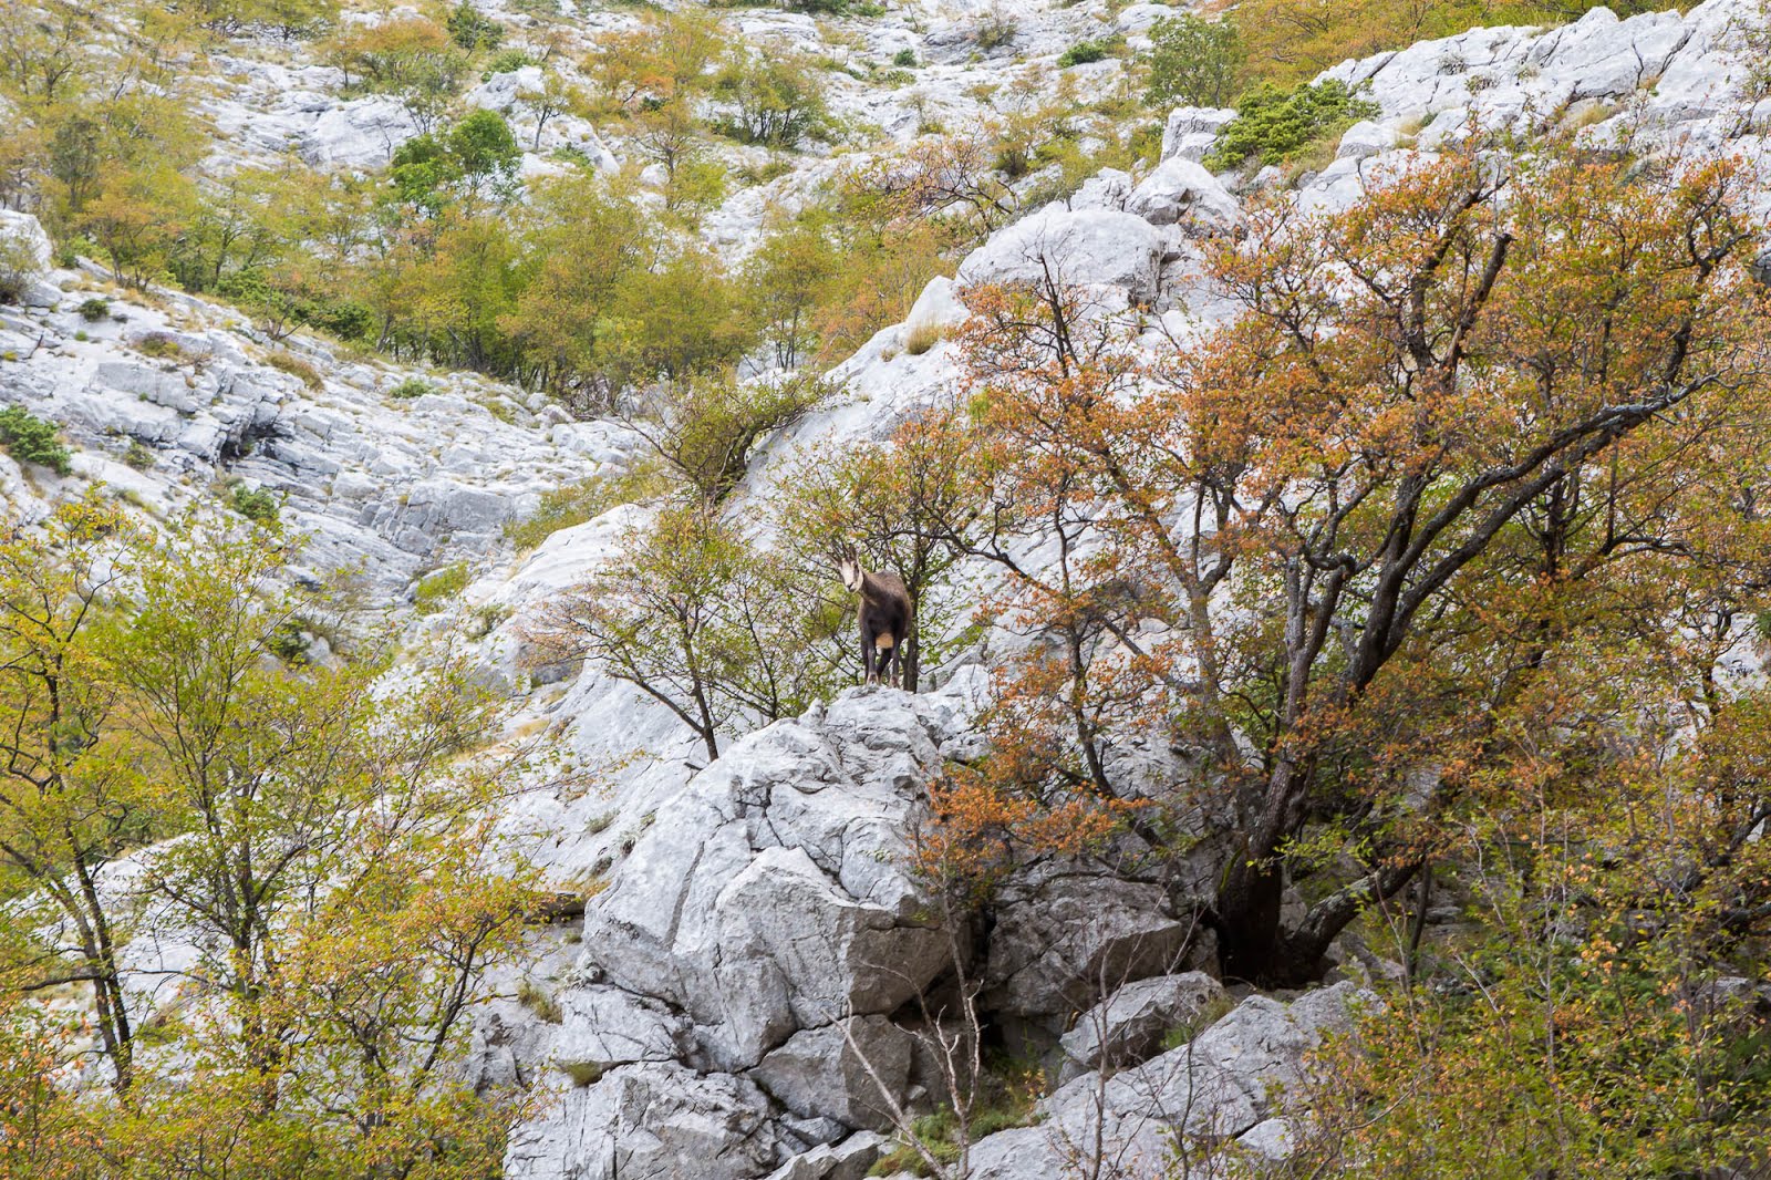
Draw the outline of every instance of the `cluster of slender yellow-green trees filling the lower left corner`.
M368 645L285 663L313 618L351 631L329 592L285 588L292 553L220 521L149 535L96 501L0 544L9 1176L498 1171L522 1097L457 1074L533 897L476 822L499 767L459 757L494 712L448 666L372 691ZM92 888L170 836L152 872ZM204 985L143 1012L119 951L149 905L193 932ZM32 1017L69 989L87 1024Z

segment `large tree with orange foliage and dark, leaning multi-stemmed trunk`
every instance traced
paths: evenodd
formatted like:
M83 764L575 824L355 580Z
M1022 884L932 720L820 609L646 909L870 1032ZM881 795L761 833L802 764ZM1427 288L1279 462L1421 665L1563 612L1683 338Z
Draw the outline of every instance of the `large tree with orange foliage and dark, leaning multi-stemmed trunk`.
M969 551L1045 636L1022 760L1103 796L1142 788L1116 749L1192 767L1137 827L1174 858L1197 808L1231 840L1204 902L1229 974L1314 976L1415 877L1571 617L1760 556L1741 191L1728 163L1473 142L1341 214L1254 209L1210 257L1238 315L1155 363L1061 275L972 294Z

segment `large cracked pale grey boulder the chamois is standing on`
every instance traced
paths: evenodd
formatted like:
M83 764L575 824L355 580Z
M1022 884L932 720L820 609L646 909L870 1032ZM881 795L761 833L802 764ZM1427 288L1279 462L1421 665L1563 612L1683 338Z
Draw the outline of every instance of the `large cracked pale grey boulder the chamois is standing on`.
M852 689L733 744L613 872L581 969L687 1013L724 1070L914 998L949 969L951 941L905 833L981 675L919 696Z

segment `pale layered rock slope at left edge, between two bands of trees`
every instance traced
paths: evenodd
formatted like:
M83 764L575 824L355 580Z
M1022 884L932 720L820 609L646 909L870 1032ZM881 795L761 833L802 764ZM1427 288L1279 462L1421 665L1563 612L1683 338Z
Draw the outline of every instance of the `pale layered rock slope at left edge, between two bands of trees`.
M636 445L611 423L542 422L512 386L273 342L205 299L106 298L78 269L37 287L37 307L0 312L0 402L57 423L74 452L69 487L103 482L166 516L218 482L267 489L308 533L317 574L358 571L388 599L429 567L498 551L545 491L623 464ZM62 494L48 473L39 484L9 498L16 514Z

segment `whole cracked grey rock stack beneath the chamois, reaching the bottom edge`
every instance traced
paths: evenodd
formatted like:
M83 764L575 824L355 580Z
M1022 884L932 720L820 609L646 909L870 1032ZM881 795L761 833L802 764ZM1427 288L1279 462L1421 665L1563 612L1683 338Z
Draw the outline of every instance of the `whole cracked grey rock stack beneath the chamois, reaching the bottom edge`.
M554 1077L593 1081L519 1130L512 1176L762 1176L889 1125L880 1084L901 1102L916 1074L893 1015L963 953L907 833L983 689L962 668L921 696L847 691L657 806L586 911L553 1033Z

